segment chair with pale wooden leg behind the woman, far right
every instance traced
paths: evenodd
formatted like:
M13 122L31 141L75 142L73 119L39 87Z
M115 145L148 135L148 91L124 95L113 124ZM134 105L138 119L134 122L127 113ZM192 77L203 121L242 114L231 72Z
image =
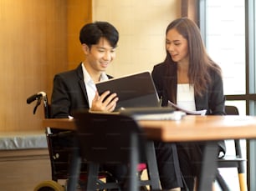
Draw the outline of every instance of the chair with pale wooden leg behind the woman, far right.
M238 108L235 106L225 106L225 111L227 115L239 115ZM219 158L218 159L218 168L238 168L238 179L239 186L241 191L247 191L247 183L245 179L245 163L246 159L243 158L240 146L240 140L234 140L235 145L235 158ZM228 190L228 186L225 183L223 177L218 172L217 173L217 181L223 190Z

